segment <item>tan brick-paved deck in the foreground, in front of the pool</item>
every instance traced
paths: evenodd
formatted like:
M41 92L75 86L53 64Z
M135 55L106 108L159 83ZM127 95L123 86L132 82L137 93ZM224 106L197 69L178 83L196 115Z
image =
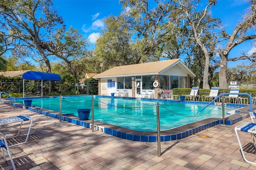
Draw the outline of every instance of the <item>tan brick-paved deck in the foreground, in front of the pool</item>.
M10 148L17 170L256 169L242 159L234 133L234 127L250 122L249 118L232 126L217 125L181 140L161 142L162 155L158 157L157 142L124 140L0 103L0 118L16 115L28 115L34 119L28 142ZM7 134L16 130L15 124L0 127L0 131ZM254 161L256 150L250 134L240 134L248 151L248 160ZM7 157L7 162L4 162L2 153L1 168L12 169L10 159Z

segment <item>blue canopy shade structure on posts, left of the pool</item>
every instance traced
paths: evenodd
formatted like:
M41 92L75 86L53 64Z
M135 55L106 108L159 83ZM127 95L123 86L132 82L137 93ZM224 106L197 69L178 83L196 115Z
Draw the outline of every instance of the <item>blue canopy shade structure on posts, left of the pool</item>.
M23 97L24 97L24 80L42 80L42 85L41 85L41 93L43 91L43 80L52 80L52 81L60 81L61 77L58 74L54 73L44 73L44 72L39 72L39 71L28 71L22 75L23 78ZM43 93L41 94L43 96Z

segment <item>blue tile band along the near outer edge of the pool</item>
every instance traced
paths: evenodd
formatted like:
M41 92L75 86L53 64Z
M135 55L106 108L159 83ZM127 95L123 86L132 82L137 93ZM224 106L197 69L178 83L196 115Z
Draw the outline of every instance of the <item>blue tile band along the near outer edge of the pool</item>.
M10 104L10 105L13 105L13 106L16 106L16 107L25 108L24 107L25 105L23 105L21 103L14 103L14 102L9 101L9 100L2 100L2 103L7 103L7 104ZM41 110L38 107L28 107L27 109L29 111L33 111L35 113L40 113L42 115L46 115L46 116L49 116L49 117L60 119L60 116L58 114L49 113L49 112L47 112L48 110L46 110L46 109ZM54 112L54 111L51 111L51 112ZM57 113L57 112L55 112L55 113ZM235 124L235 123L237 123L237 122L239 122L243 119L246 119L248 117L250 117L249 113L241 115L240 117L238 117L236 119L233 119L233 120L225 120L225 124L226 125L233 125L233 124ZM82 127L86 127L86 128L90 128L90 129L92 128L91 123L87 123L87 122L80 121L80 120L77 120L77 119L72 119L72 118L69 118L69 117L61 116L61 120L66 121L68 123L73 123L75 125L80 125ZM186 138L186 137L188 137L192 134L195 134L197 132L200 132L202 130L205 130L207 128L214 127L216 125L222 124L222 122L223 121L221 119L218 119L216 121L206 123L205 125L201 125L199 127L192 128L192 129L187 130L185 132L180 132L180 133L176 133L176 134L169 134L169 135L160 135L160 139L161 139L161 142L170 141L170 140L179 140L179 139L182 139L182 138ZM140 142L157 142L157 136L156 135L130 134L130 133L121 132L119 130L106 128L106 127L103 127L103 126L100 126L100 125L95 125L95 124L94 124L94 130L104 132L106 134L110 134L112 136L116 136L116 137L126 139L126 140L133 140L133 141L140 141Z

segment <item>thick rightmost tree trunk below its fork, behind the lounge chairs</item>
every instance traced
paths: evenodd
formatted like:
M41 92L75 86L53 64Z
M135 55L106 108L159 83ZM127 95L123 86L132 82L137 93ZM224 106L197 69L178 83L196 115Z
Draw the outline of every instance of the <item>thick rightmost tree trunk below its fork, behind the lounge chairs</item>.
M219 72L219 88L220 89L228 89L228 82L227 82L227 57L228 53L226 55L220 53L220 72Z

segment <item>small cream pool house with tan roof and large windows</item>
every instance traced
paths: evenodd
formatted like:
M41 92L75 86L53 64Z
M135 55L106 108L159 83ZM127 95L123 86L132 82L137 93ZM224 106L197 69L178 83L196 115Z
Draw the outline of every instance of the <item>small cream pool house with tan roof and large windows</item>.
M94 78L99 80L99 95L111 95L116 91L125 92L128 97L158 90L163 92L178 87L190 87L190 77L196 75L180 59L155 61L113 67ZM154 95L159 98L160 95Z

